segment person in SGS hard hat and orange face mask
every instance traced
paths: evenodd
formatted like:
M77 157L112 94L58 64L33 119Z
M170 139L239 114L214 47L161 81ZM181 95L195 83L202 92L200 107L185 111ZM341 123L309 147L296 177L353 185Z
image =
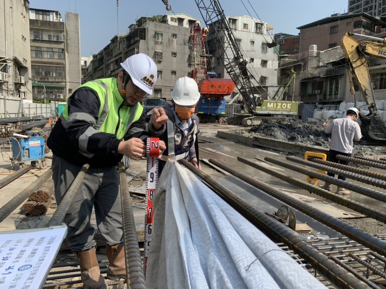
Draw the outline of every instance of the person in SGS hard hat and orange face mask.
M190 77L181 77L171 91L173 104L166 103L154 108L149 121L149 132L162 133L160 139L166 143L161 160L185 159L201 169L199 161L199 118L194 113L200 99L197 82ZM165 162L159 162L159 174Z

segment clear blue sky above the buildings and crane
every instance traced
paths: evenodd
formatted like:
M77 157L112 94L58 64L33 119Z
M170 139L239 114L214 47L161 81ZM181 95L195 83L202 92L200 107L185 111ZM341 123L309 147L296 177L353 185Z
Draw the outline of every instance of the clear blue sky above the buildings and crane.
M30 8L57 10L63 18L65 12L79 14L80 50L81 56L85 57L101 51L117 33L127 33L128 26L142 16L152 17L174 12L202 20L194 0L168 0L172 12L165 10L161 0L119 0L118 18L116 0L29 1ZM296 28L299 26L334 13L347 12L348 0L220 0L220 4L226 16L251 15L272 25L274 33L298 34L299 30Z

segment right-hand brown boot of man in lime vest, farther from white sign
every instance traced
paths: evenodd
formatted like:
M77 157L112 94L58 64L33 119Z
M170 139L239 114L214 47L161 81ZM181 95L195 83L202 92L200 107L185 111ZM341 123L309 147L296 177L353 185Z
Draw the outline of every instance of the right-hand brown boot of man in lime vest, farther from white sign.
M109 259L109 269L107 277L110 280L126 279L125 247L123 244L106 244L107 258Z

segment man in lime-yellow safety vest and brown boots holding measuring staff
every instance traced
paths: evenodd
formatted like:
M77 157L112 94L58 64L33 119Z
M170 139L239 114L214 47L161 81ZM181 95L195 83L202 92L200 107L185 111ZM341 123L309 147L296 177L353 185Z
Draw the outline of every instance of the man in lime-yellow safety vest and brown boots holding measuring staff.
M93 208L107 243L107 277L126 277L117 165L123 156L146 157L148 135L139 102L153 93L157 81L157 67L145 54L129 57L121 67L117 78L96 79L78 87L47 140L52 165L57 168L53 180L58 204L82 166L89 165L64 219L68 244L79 258L83 286L89 289L106 288L90 224ZM160 156L165 148L160 141Z

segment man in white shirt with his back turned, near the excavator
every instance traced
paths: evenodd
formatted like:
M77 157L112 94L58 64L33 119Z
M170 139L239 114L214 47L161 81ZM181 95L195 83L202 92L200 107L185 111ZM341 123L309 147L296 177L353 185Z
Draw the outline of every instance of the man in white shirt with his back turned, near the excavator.
M351 157L353 149L353 140L359 141L362 137L359 124L355 121L359 117L359 111L355 107L351 107L346 112L346 117L335 118L323 124L324 131L331 133L330 150L328 151L328 161L348 165L347 161L338 160L337 155ZM335 174L328 172L328 176L334 177ZM338 176L338 179L345 181L346 178ZM323 189L331 191L331 184L325 182ZM338 187L337 194L349 195L350 191L345 188Z

